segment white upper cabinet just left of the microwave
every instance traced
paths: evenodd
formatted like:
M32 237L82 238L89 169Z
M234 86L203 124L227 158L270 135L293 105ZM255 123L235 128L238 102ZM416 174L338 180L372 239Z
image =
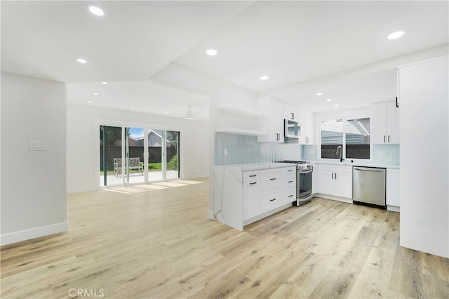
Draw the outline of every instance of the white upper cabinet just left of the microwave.
M267 115L257 119L257 141L283 143L283 103L267 96L257 100L257 110Z

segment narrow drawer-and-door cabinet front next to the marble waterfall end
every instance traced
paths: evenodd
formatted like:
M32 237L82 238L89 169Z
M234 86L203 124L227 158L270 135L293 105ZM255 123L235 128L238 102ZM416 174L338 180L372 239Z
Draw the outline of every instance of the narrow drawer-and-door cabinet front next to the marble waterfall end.
M260 214L260 171L243 173L243 220Z

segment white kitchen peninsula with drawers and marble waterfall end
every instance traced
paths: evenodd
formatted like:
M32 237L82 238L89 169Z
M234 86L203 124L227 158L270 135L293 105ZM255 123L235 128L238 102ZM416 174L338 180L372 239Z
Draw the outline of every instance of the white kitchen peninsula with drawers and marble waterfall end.
M296 200L296 168L261 163L214 167L213 215L209 218L243 230L245 225L282 211Z

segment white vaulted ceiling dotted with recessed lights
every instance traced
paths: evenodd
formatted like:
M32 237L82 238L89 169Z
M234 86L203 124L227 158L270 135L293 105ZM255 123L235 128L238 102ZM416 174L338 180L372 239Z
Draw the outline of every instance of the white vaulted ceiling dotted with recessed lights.
M96 3L105 16L89 1L1 1L1 69L65 82L69 102L206 117L208 97L229 85L311 111L334 109L325 98L388 100L394 64L354 69L448 48L448 1ZM387 39L396 30L406 33Z

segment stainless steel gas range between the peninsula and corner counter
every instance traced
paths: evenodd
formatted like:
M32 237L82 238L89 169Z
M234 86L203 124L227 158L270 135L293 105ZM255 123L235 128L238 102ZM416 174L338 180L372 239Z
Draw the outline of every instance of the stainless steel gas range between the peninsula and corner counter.
M282 163L296 164L296 201L294 206L301 206L311 199L311 173L314 168L307 161L279 161Z

